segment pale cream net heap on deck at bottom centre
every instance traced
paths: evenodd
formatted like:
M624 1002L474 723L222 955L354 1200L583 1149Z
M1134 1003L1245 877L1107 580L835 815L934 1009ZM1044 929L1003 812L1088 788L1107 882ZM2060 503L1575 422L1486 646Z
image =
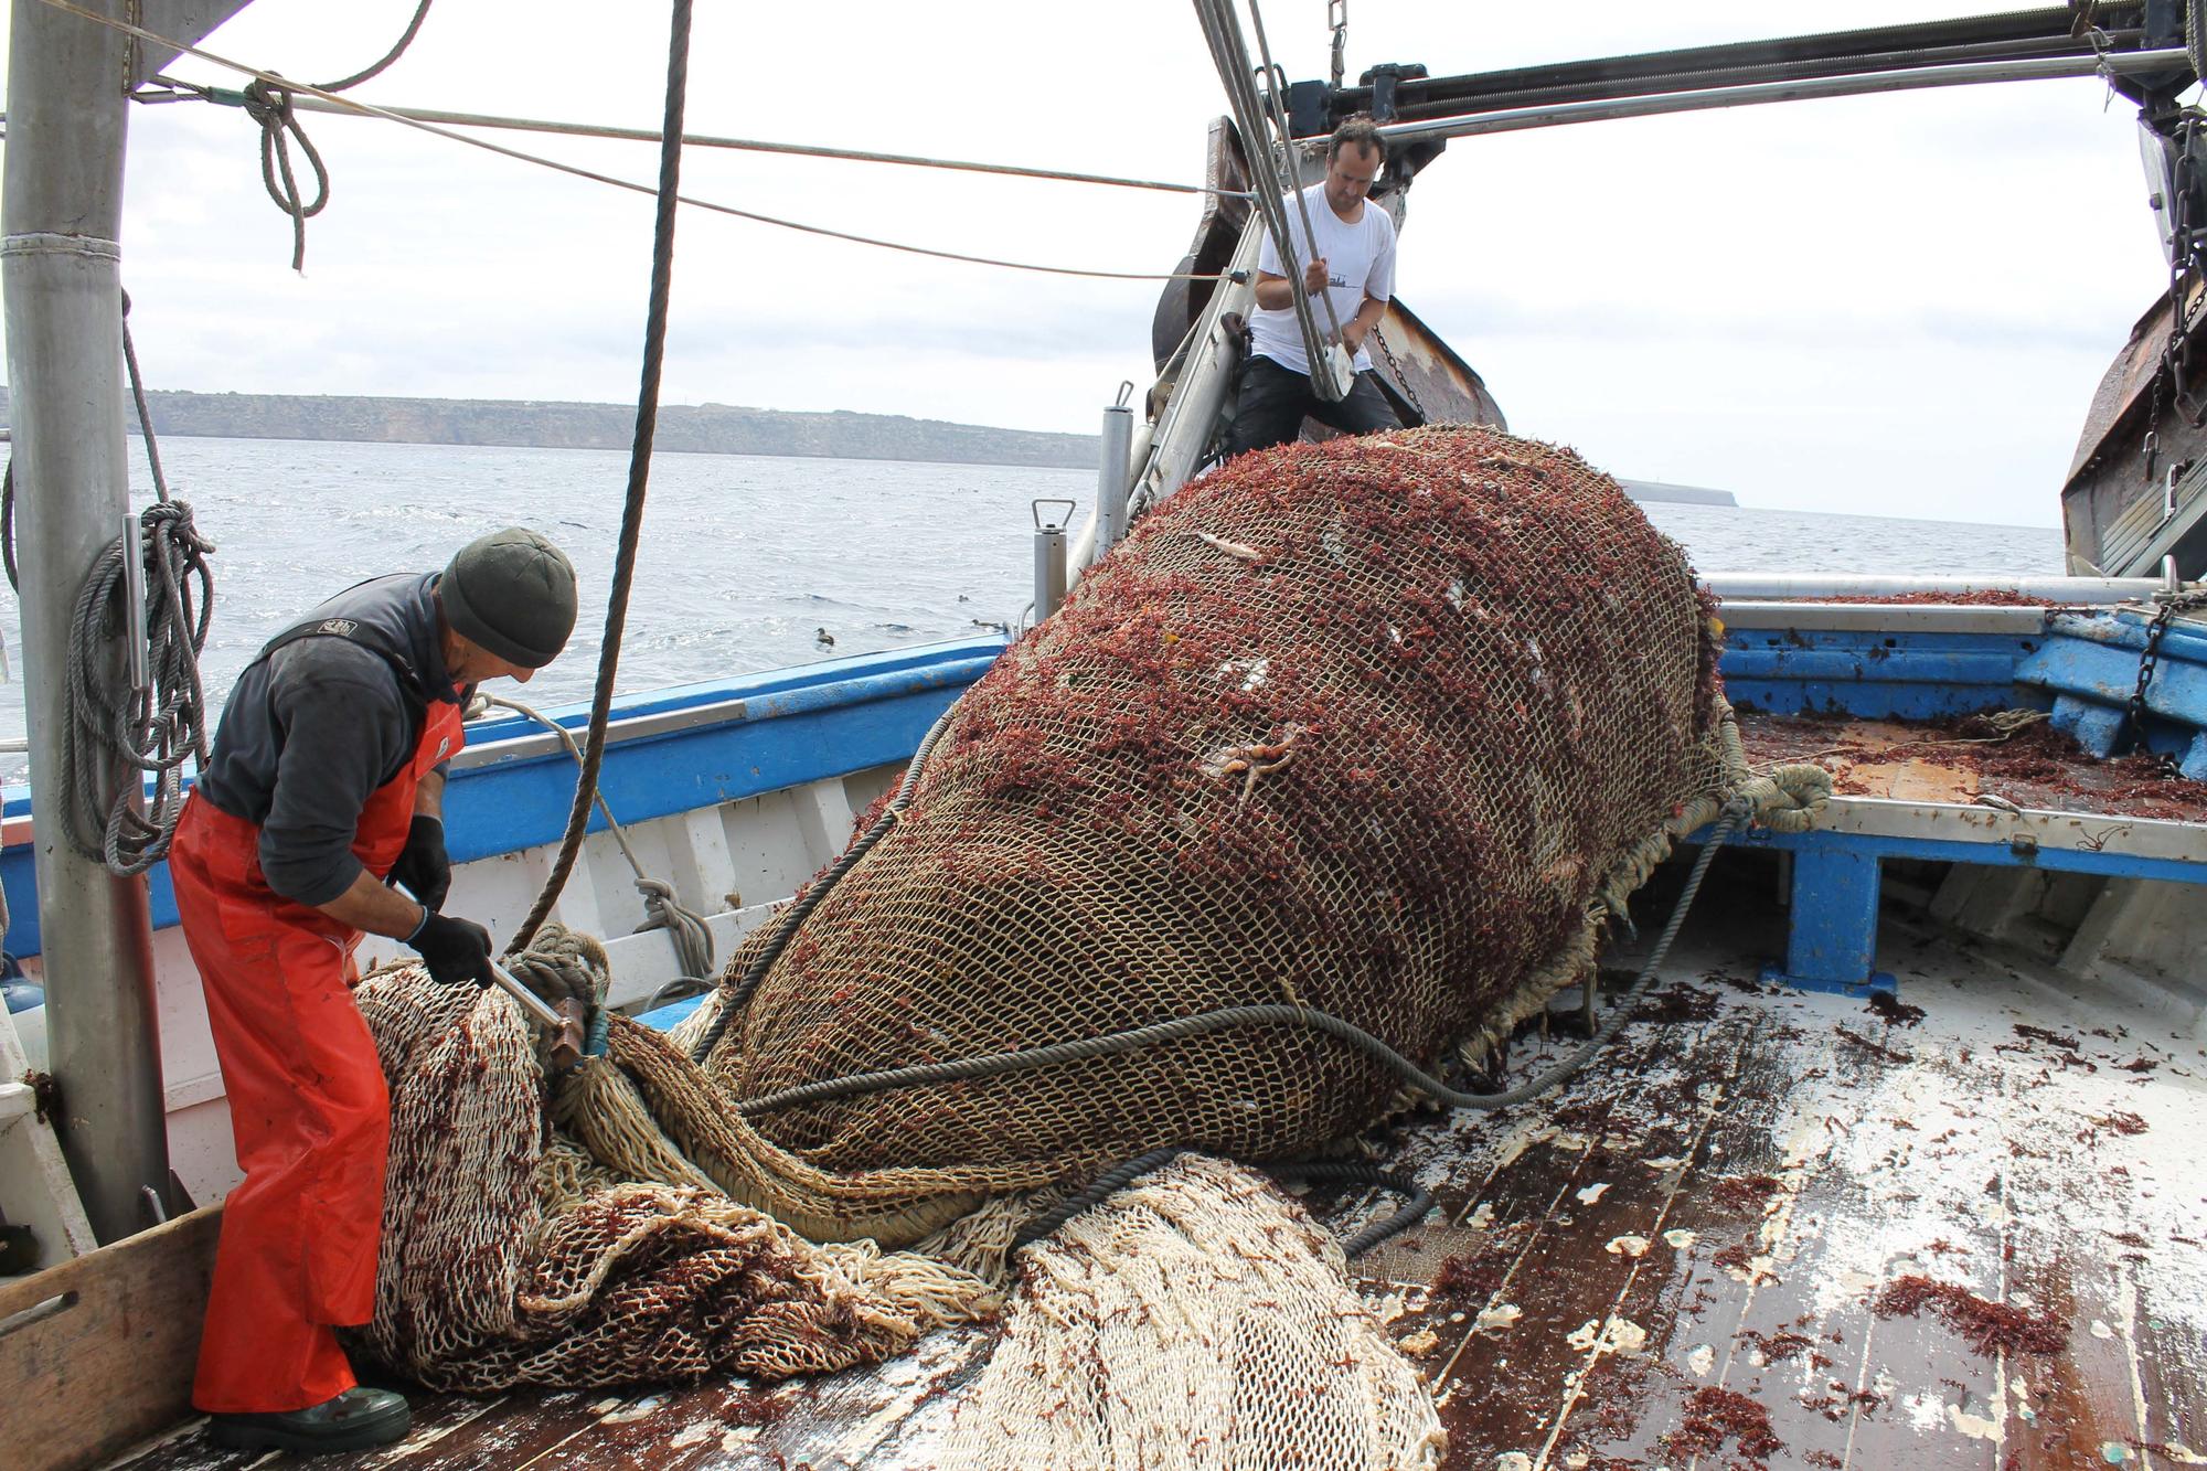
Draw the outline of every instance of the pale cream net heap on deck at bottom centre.
M1443 1444L1333 1235L1260 1175L1181 1155L1026 1252L940 1464L1415 1471Z

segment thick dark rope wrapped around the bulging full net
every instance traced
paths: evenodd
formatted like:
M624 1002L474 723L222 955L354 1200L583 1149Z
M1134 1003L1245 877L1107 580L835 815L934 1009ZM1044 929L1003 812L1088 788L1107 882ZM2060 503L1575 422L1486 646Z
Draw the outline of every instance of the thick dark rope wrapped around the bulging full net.
M918 758L914 758L914 766L918 766ZM905 775L909 782L911 773L907 771ZM993 1051L978 1058L953 1058L949 1062L916 1062L911 1067L892 1067L872 1073L852 1073L847 1078L819 1078L814 1082L799 1082L788 1089L777 1089L772 1093L761 1093L759 1098L744 1100L742 1104L737 1104L737 1111L744 1113L746 1118L759 1118L764 1113L775 1113L779 1109L795 1109L799 1104L825 1102L830 1098L850 1098L852 1093L883 1093L889 1089L918 1089L938 1082L960 1082L967 1078L998 1078L1002 1073L1026 1073L1044 1067L1062 1067L1066 1062L1086 1062L1090 1058L1108 1058L1126 1051L1139 1051L1143 1047L1161 1047L1165 1043L1179 1043L1212 1031L1227 1031L1232 1027L1282 1027L1282 1025L1309 1027L1311 1031L1324 1031L1326 1036L1348 1043L1351 1047L1364 1051L1373 1060L1393 1069L1395 1076L1401 1078L1408 1087L1428 1093L1430 1098L1435 1098L1441 1104L1448 1104L1450 1109L1507 1109L1529 1098L1538 1098L1540 1093L1547 1093L1549 1089L1556 1089L1563 1082L1567 1082L1587 1062L1591 1062L1593 1056L1618 1036L1618 1031L1624 1029L1624 1023L1631 1020L1633 1009L1640 1005L1642 996L1646 996L1649 987L1655 983L1655 972L1662 965L1664 956L1671 952L1671 941L1677 939L1680 925L1686 923L1686 910L1693 908L1693 899L1702 890L1702 879L1708 872L1710 859L1717 857L1717 850L1726 844L1726 839L1730 839L1732 830L1752 815L1755 806L1750 800L1744 797L1732 797L1732 802L1724 806L1724 815L1708 830L1708 839L1702 844L1702 853L1693 861L1693 872L1686 877L1686 888L1680 892L1677 903L1671 908L1671 921L1655 939L1653 950L1649 950L1649 959L1640 967L1640 976L1633 981L1631 990L1624 994L1622 1001L1618 1001L1618 1005L1611 1007L1611 1016L1602 1025L1602 1029L1596 1031L1593 1038L1589 1038L1578 1051L1574 1051L1563 1062L1554 1065L1552 1069L1532 1078L1529 1082L1523 1082L1514 1089L1505 1089L1501 1093L1468 1093L1463 1089L1452 1089L1432 1073L1428 1073L1426 1069L1421 1069L1410 1058L1388 1047L1371 1031L1357 1027L1355 1023L1342 1020L1340 1016L1329 1016L1326 1012L1313 1012L1311 1007L1273 1003L1273 1005L1251 1005L1251 1007L1220 1007L1216 1012L1198 1012L1194 1016L1176 1016L1172 1020L1150 1023L1148 1027L1106 1031L1101 1036L1075 1038L1070 1043L1053 1043L1048 1047ZM883 817L887 817L887 813L883 813ZM874 828L870 828L870 835L881 826L883 824L876 822ZM814 883L814 892L808 895L808 899L817 899L817 895L825 890L828 883L834 877L841 877L841 872L845 870L847 864L839 866L830 875L823 875L821 881ZM788 943L792 934L795 925L788 925L783 934L777 936L777 952L779 945ZM753 970L764 974L764 967L755 965ZM750 974L746 974L746 981L755 983ZM748 996L748 990L742 990L739 994ZM711 1038L717 1040L717 1034L726 1029L726 1020L728 1016L733 1016L737 998L731 996L728 1005L724 1005L722 1014L713 1020L713 1031L708 1034ZM693 1051L693 1060L702 1060L706 1051L711 1051L711 1047L700 1045Z

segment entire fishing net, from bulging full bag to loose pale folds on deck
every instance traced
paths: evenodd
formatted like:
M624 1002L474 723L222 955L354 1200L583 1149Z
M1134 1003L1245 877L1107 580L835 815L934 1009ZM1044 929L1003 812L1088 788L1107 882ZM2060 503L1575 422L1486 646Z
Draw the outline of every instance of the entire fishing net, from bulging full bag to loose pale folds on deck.
M362 983L395 1113L369 1345L470 1389L903 1352L995 1312L1013 1230L1104 1166L1307 1157L1401 1102L1293 1016L1130 1029L1287 1005L1441 1071L1580 983L1744 775L1684 557L1578 455L1426 428L1240 457L958 700L691 1020L607 1018L550 1120L510 1001ZM605 994L603 950L545 943ZM1059 1043L1079 1056L788 1096ZM1254 1175L1183 1157L1024 1261L1004 1414L1079 1403L1092 1449L1185 1365L1205 1422L1293 1365L1311 1418L1267 1433L1364 1447L1326 1464L1430 1449L1337 1248ZM960 1425L953 1464L1104 1464Z

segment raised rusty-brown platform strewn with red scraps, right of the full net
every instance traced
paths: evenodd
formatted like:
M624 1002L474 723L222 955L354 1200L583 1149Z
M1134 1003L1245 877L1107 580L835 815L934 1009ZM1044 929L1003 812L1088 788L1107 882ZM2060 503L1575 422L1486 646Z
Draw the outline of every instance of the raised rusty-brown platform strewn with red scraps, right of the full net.
M2094 760L2044 720L2002 733L1984 720L1741 711L1739 738L1757 766L1823 766L1841 797L1969 804L1991 795L2039 811L2207 822L2207 782L2172 777L2152 755Z

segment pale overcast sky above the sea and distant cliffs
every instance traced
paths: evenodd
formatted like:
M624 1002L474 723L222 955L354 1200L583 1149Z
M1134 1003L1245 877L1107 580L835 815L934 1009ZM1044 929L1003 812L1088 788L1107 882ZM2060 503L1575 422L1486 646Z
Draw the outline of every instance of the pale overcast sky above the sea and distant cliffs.
M1353 0L1351 77L1920 20L1929 7ZM413 0L258 0L205 44L309 82ZM1271 0L1293 77L1324 0ZM658 126L658 2L437 0L355 95ZM236 86L183 60L174 75ZM1198 181L1218 80L1179 0L697 7L689 128ZM2086 404L2165 285L2136 110L2092 80L1459 139L1410 194L1397 292L1516 433L1750 506L2053 526ZM157 389L631 400L651 201L384 121L313 117L307 272L256 128L132 108L124 281ZM649 144L530 139L649 181ZM1165 272L1196 201L691 150L684 190L945 250ZM706 212L678 230L664 402L1092 431L1150 378L1154 283L925 261Z

